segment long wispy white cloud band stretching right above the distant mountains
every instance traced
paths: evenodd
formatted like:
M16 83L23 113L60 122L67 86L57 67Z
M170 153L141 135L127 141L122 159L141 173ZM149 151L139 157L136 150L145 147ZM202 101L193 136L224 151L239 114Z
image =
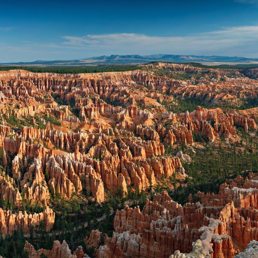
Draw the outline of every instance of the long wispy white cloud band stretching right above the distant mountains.
M64 36L62 46L103 54L216 54L258 57L258 26L223 28L185 37L158 37L135 33ZM105 52L106 51L106 52ZM252 55L253 55L252 54Z

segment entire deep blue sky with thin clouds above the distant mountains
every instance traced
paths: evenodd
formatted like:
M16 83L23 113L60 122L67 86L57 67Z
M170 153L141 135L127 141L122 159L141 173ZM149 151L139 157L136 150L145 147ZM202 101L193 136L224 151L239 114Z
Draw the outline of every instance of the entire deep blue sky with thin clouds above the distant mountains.
M2 1L0 62L159 53L258 58L257 14L258 0Z

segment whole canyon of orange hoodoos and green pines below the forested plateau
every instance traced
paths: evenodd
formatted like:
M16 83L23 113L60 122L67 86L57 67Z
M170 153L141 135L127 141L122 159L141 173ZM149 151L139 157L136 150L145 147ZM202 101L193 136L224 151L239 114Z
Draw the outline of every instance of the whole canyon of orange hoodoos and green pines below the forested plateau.
M136 68L0 71L1 258L257 254L258 68Z

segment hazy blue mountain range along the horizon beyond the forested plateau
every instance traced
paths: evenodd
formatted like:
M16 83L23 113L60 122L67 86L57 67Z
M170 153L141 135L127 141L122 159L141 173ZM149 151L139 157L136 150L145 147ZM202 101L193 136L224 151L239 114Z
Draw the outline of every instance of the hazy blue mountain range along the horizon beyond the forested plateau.
M17 63L0 63L1 65L19 65L19 66L79 66L79 65L109 65L109 64L139 64L151 61L167 62L200 62L200 63L258 63L258 58L245 57L224 57L219 55L102 55L100 57L91 57L78 60L54 60Z

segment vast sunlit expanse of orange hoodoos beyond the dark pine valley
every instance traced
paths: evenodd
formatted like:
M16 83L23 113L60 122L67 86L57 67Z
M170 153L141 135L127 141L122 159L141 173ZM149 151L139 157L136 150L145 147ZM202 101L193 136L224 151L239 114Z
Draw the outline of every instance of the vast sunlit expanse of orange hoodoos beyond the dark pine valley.
M146 67L185 72L200 70L162 63ZM32 124L14 132L8 123L1 122L3 162L5 166L12 163L14 179L20 180L24 176L20 180L20 187L25 192L25 198L44 204L50 200L50 188L54 194L59 192L62 197L70 198L73 192L80 192L87 187L93 198L101 201L104 199L104 188L115 193L119 187L126 193L126 185L134 189L139 185L142 190L149 186L150 180L155 185L162 174L170 176L175 171L180 172L183 178L180 158L184 159L184 156L164 157L168 144L192 145L195 144L195 135L214 142L220 135L235 137L235 126L241 126L246 131L256 127L253 117L233 112L224 114L219 109L197 107L190 113L174 114L161 105L149 110L141 110L136 105L140 102L147 104L150 100L155 105L157 101L175 101L172 94L186 97L189 93L193 97L195 93L190 92L198 87L208 92L212 84L207 79L182 93L181 86L185 89L186 84L140 70L80 75L14 70L1 72L0 78L3 120L10 116L18 119L27 117ZM137 85L142 85L140 94ZM176 90L175 86L178 87ZM51 94L64 101L74 101L78 117L68 105L59 106ZM208 94L209 99L220 98L217 93L205 94ZM225 94L222 96L224 100ZM202 93L198 92L198 96L202 96ZM10 103L5 103L6 100ZM13 100L19 103L15 104ZM106 100L119 101L126 106L107 104ZM51 121L41 117L45 114L48 119L51 117ZM61 126L51 124L54 123L53 119L58 119ZM169 126L165 126L166 122L169 122ZM77 124L77 132L75 128L69 129L74 124ZM54 150L51 151L51 148ZM75 156L69 160L68 153ZM64 156L57 158L57 154ZM11 160L12 156L14 158ZM88 165L92 169L86 169ZM90 172L86 174L86 171ZM5 186L2 186L2 198L14 200L17 206L20 193L12 189L12 183L10 185L7 181L5 179Z

